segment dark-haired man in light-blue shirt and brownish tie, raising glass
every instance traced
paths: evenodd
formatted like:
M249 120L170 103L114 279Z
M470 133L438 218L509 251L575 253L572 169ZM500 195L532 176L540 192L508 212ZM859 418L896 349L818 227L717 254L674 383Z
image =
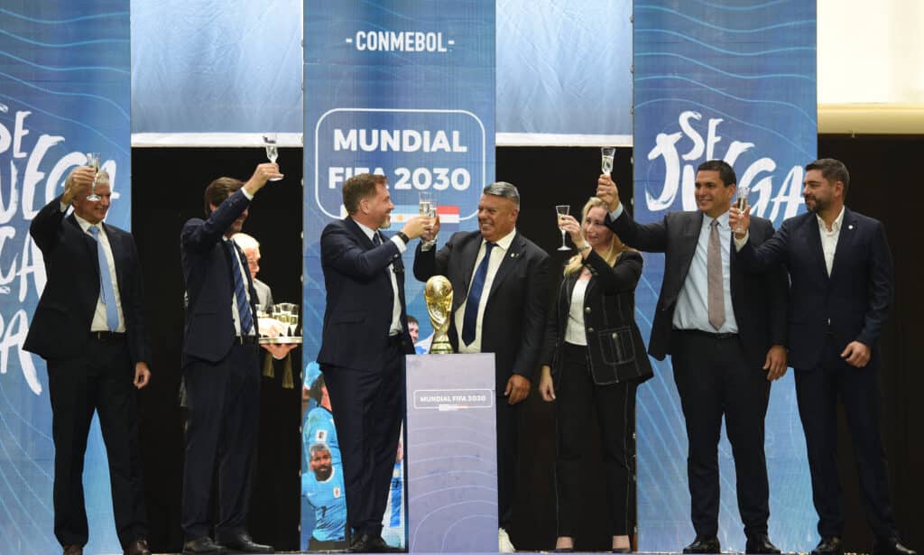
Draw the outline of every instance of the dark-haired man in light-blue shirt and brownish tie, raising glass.
M779 553L767 536L770 518L764 418L770 383L786 370L785 299L782 270L750 275L734 256L728 209L735 171L721 160L699 164L699 211L670 212L642 225L623 210L609 175L597 196L610 207L607 224L626 245L663 252L664 279L651 324L649 353L672 356L674 380L687 425L687 479L696 538L685 553L718 553L718 443L725 418L735 456L738 511L748 553ZM773 234L755 221L753 238Z

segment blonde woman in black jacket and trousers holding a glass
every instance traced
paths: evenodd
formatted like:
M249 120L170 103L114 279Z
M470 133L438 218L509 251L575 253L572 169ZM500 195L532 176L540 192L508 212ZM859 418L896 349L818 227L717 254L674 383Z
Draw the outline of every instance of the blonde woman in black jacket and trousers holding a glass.
M605 225L606 214L606 204L593 197L584 205L580 223L571 216L560 223L578 254L565 265L549 315L539 384L542 398L555 402L557 419L558 552L574 549L576 524L582 520L582 459L589 451L594 416L606 469L613 551L629 551L636 531L636 388L652 375L634 318L642 259Z

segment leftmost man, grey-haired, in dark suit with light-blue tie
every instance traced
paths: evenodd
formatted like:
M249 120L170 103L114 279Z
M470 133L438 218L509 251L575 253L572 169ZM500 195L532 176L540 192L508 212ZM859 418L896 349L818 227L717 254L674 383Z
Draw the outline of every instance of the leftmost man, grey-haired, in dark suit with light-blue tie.
M103 223L109 175L80 167L65 191L32 220L48 282L24 348L48 366L55 439L55 537L66 555L87 543L83 457L93 411L109 458L116 531L125 553L148 554L141 483L137 392L148 384L151 350L144 325L141 269L128 232ZM65 218L67 207L74 212Z

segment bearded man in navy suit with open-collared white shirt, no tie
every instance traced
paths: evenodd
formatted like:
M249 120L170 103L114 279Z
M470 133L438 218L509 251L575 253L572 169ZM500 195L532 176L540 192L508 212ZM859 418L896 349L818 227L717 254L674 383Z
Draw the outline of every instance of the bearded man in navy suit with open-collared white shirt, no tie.
M749 211L734 211L738 257L749 270L789 271L789 357L806 434L808 468L821 542L813 555L844 552L837 471L837 397L847 426L877 555L913 555L895 529L880 433L879 336L893 296L892 254L882 223L844 205L850 175L831 158L806 166L808 212L755 242ZM740 224L739 224L740 223ZM750 229L748 230L748 225ZM749 235L749 236L748 236Z

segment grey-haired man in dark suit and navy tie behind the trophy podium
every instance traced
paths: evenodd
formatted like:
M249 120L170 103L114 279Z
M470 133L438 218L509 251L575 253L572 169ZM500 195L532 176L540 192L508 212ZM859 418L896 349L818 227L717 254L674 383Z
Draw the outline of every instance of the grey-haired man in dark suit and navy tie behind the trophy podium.
M478 231L453 234L439 251L417 249L414 276L444 275L453 285L449 341L456 353L494 353L497 403L498 547L514 550L506 529L517 493L518 404L539 368L549 300L549 256L517 233L519 192L504 181L484 187ZM439 231L437 223L436 231ZM501 389L503 388L503 389Z

